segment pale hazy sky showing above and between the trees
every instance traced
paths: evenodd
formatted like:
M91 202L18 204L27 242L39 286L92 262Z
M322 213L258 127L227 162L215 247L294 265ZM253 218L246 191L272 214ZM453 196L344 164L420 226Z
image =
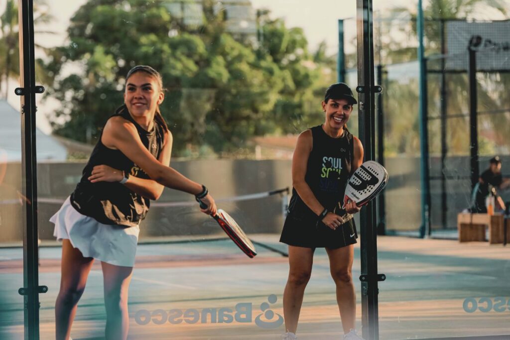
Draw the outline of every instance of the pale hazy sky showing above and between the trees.
M55 35L35 36L38 43L45 47L53 47L65 43L65 33L72 14L77 11L86 0L45 0L49 6L50 13L55 21L49 24L44 30L56 32ZM0 9L5 8L6 0L0 0ZM338 46L338 19L353 18L356 16L356 0L251 0L252 6L256 9L267 8L271 11L272 17L285 19L287 27L301 27L309 41L309 47L313 51L321 41L326 41L328 53L334 54ZM374 11L383 13L389 7L415 7L414 0L393 0L391 2L374 0ZM355 21L346 28L355 30ZM40 53L40 52L39 52ZM36 57L37 52L36 52ZM17 87L12 82L10 88ZM19 106L19 98L10 91L8 101L14 106ZM51 128L45 118L55 109L55 103L48 100L38 105L37 126L45 133L50 133Z

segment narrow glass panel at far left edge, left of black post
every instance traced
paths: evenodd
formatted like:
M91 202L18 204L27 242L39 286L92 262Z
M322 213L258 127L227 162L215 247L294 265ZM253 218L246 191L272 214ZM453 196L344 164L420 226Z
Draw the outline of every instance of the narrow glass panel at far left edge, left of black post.
M17 2L0 5L0 338L23 337L23 216ZM8 71L8 73L6 72ZM8 74L8 76L5 76Z

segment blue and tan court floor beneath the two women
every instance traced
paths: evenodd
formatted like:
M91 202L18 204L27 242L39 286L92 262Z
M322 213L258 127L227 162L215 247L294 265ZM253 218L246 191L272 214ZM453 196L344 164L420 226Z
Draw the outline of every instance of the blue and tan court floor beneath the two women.
M274 234L251 235L285 251ZM250 259L230 240L141 244L130 287L130 339L279 339L287 258L263 247ZM40 249L40 338L55 338L54 303L60 280L60 247ZM454 240L378 238L381 339L498 335L508 333L510 247ZM0 334L23 337L22 249L0 249ZM361 328L360 247L353 277ZM505 309L471 312L473 301L505 299ZM487 307L488 303L480 304ZM479 306L479 307L480 307ZM497 310L496 310L497 309ZM71 336L101 339L105 326L103 281L94 264ZM305 292L300 340L340 339L342 334L323 249L314 258Z

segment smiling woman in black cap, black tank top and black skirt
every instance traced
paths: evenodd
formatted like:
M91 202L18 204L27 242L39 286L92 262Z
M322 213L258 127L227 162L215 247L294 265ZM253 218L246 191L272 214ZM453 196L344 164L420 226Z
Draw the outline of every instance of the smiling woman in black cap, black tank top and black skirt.
M345 211L339 206L350 174L363 163L363 146L346 125L355 103L346 84L331 85L322 101L324 123L305 130L297 140L292 159L292 198L280 239L289 245L290 265L284 291L284 339L296 338L317 247L325 248L329 257L345 338L361 339L355 331L356 297L351 274L358 233L354 220L344 223L341 218L345 211L353 214L360 208L354 202Z

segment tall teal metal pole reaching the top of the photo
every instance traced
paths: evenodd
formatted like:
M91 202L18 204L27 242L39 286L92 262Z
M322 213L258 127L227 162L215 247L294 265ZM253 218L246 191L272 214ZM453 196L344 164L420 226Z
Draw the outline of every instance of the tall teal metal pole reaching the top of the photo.
M420 168L421 168L421 226L420 237L430 235L430 184L428 170L428 126L427 126L427 70L425 47L423 45L423 7L422 0L418 0L418 61L420 63L420 94L419 94L419 124L420 124Z

